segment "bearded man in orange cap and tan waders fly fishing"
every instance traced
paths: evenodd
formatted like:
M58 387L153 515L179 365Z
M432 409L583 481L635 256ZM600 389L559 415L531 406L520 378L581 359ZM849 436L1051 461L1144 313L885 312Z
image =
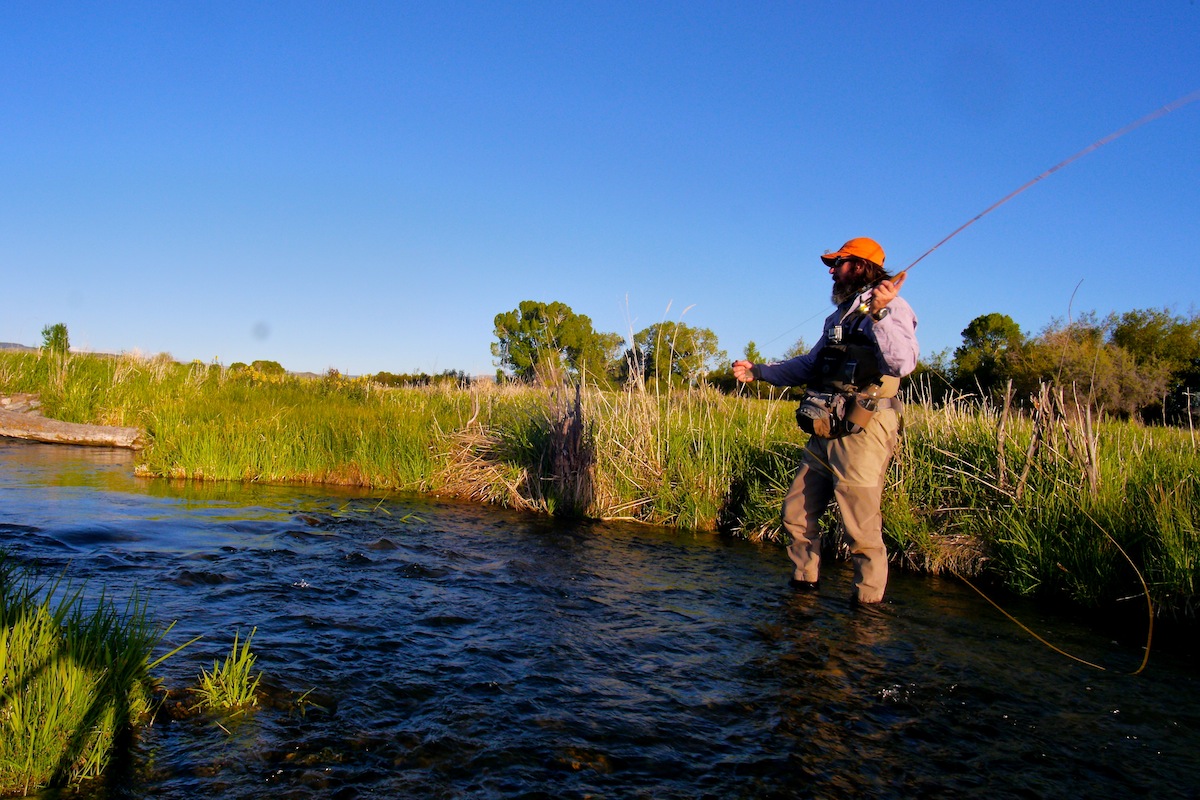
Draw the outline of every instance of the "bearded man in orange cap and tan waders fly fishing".
M779 363L736 361L733 374L744 383L805 386L796 417L811 435L784 498L791 585L817 588L818 523L836 499L854 561L852 600L877 603L888 582L880 503L899 439L902 407L895 393L900 378L917 366L917 315L899 296L907 273L893 278L883 269L883 248L875 240L851 239L821 260L833 276L838 308L816 347Z

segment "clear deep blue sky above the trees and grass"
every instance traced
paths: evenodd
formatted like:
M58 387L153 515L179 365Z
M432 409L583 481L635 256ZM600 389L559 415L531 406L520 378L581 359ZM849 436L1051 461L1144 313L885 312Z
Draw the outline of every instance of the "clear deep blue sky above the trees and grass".
M0 74L0 341L475 374L522 300L815 341L820 253L907 266L1200 89L1200 5L10 1ZM1200 102L904 294L931 355L989 312L1189 313L1198 253Z

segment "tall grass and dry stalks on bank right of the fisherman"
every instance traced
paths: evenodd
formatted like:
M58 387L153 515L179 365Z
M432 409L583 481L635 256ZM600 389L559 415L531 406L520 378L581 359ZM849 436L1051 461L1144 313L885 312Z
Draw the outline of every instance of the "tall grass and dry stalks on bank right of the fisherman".
M1194 616L1200 453L1187 432L1060 417L1034 446L1037 422L1002 416L910 407L884 510L910 560L1085 607L1140 596L1141 577L1156 607Z

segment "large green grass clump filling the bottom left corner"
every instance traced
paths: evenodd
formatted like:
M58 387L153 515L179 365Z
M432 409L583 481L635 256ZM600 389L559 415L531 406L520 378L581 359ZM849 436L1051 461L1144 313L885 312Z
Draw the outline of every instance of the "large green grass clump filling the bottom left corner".
M101 775L149 708L163 633L136 597L89 604L0 559L0 795Z

